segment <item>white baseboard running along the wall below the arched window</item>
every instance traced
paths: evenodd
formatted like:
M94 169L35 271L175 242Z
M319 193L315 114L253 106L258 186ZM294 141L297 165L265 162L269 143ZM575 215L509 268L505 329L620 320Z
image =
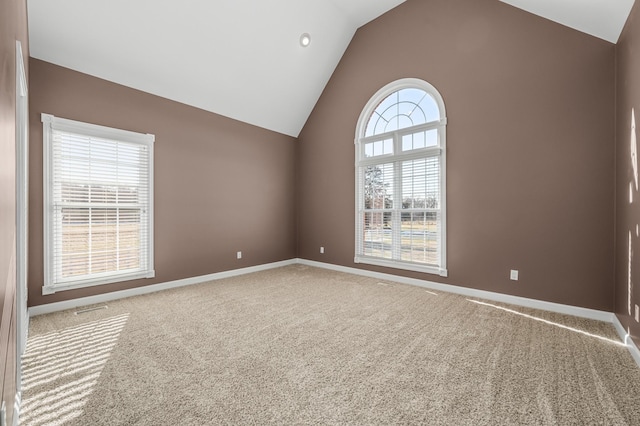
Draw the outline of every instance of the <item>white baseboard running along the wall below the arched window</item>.
M430 290L444 291L447 293L460 294L468 297L477 297L479 299L493 300L495 302L509 303L512 305L524 306L527 308L540 309L544 311L557 312L559 314L573 315L575 317L589 318L608 323L613 322L615 316L611 312L598 311L596 309L580 308L577 306L563 305L554 302L545 302L542 300L528 299L526 297L511 296L509 294L494 293L492 291L477 290L468 287L459 287L451 284L441 284L432 281L419 280L417 278L401 277L399 275L384 274L381 272L367 271L365 269L351 268L348 266L332 265L329 263L316 262L314 260L298 259L299 264L307 266L315 266L317 268L330 269L332 271L346 272L348 274L362 275L365 277L376 278L380 280L395 281L401 284L409 284L418 287L428 288Z

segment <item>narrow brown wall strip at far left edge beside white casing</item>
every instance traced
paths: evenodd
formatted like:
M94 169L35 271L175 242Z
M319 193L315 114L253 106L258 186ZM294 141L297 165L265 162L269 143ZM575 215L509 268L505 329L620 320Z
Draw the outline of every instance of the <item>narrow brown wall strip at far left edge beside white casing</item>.
M16 40L28 57L24 0L0 2L0 392L13 421L16 393Z

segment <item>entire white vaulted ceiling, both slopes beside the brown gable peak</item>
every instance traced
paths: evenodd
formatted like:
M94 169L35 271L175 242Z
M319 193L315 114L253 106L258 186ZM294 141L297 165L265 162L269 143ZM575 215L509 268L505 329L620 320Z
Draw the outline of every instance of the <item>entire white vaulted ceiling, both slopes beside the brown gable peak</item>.
M37 59L298 136L355 31L404 1L28 0L29 47ZM500 1L613 43L634 2Z

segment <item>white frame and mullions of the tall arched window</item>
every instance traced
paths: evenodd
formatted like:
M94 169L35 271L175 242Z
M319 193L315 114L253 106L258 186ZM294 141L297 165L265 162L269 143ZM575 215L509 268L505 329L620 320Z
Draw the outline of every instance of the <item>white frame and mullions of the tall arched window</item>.
M386 99L389 95L393 94L402 89L420 89L428 93L435 100L438 109L440 111L440 120L428 122L421 125L416 125L413 127L402 128L400 130L377 134L375 136L365 137L365 132L367 128L367 123L369 122L370 117L384 99ZM440 92L429 84L428 82L417 79L417 78L404 78L401 80L397 80L391 82L378 90L376 94L374 94L369 102L365 105L364 109L360 113L360 117L358 118L358 124L356 126L356 134L355 134L355 186L356 186L356 208L355 208L355 263L365 263L376 266L383 266L389 268L396 269L404 269L409 271L417 271L417 272L425 272L430 274L437 274L442 277L446 277L448 275L447 270L447 197L446 197L446 165L447 165L447 149L446 149L446 127L447 127L447 115L446 109L444 105L444 100L440 95ZM419 130L428 130L428 129L438 129L438 145L434 147L429 147L425 149L414 151L403 152L401 149L402 144L402 136L409 133L414 133ZM393 139L394 149L393 154L387 155L379 155L375 157L365 157L365 143L371 142L373 140L383 140L383 139ZM439 256L440 256L440 264L437 266L431 265L421 265L418 262L407 262L402 261L400 259L386 259L380 257L373 256L365 256L362 238L364 233L364 169L367 166L376 165L376 164L388 164L394 162L401 162L413 159L422 159L439 156L440 158L440 244L438 246ZM397 181L397 179L396 179ZM399 185L399 183L396 183ZM397 189L396 189L397 191ZM395 194L398 194L399 191L394 191ZM395 210L395 209L394 209ZM396 232L399 232L396 231ZM395 241L398 241L399 238L396 238Z

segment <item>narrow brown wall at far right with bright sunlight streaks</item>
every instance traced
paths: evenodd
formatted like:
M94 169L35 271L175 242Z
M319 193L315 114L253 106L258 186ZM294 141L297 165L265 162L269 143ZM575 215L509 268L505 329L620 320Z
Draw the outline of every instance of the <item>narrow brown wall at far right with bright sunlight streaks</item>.
M636 154L634 158L631 154L633 142L640 141L640 133L637 130L634 132L631 128L632 111L635 113L636 125L640 127L638 49L640 49L640 6L636 2L616 46L615 313L625 329L630 331L635 342L640 345L640 326L633 319L635 305L640 305L640 230L638 229L640 192L636 187L633 167L635 163L635 170L638 170L638 156ZM629 253L629 244L631 244L631 253Z

